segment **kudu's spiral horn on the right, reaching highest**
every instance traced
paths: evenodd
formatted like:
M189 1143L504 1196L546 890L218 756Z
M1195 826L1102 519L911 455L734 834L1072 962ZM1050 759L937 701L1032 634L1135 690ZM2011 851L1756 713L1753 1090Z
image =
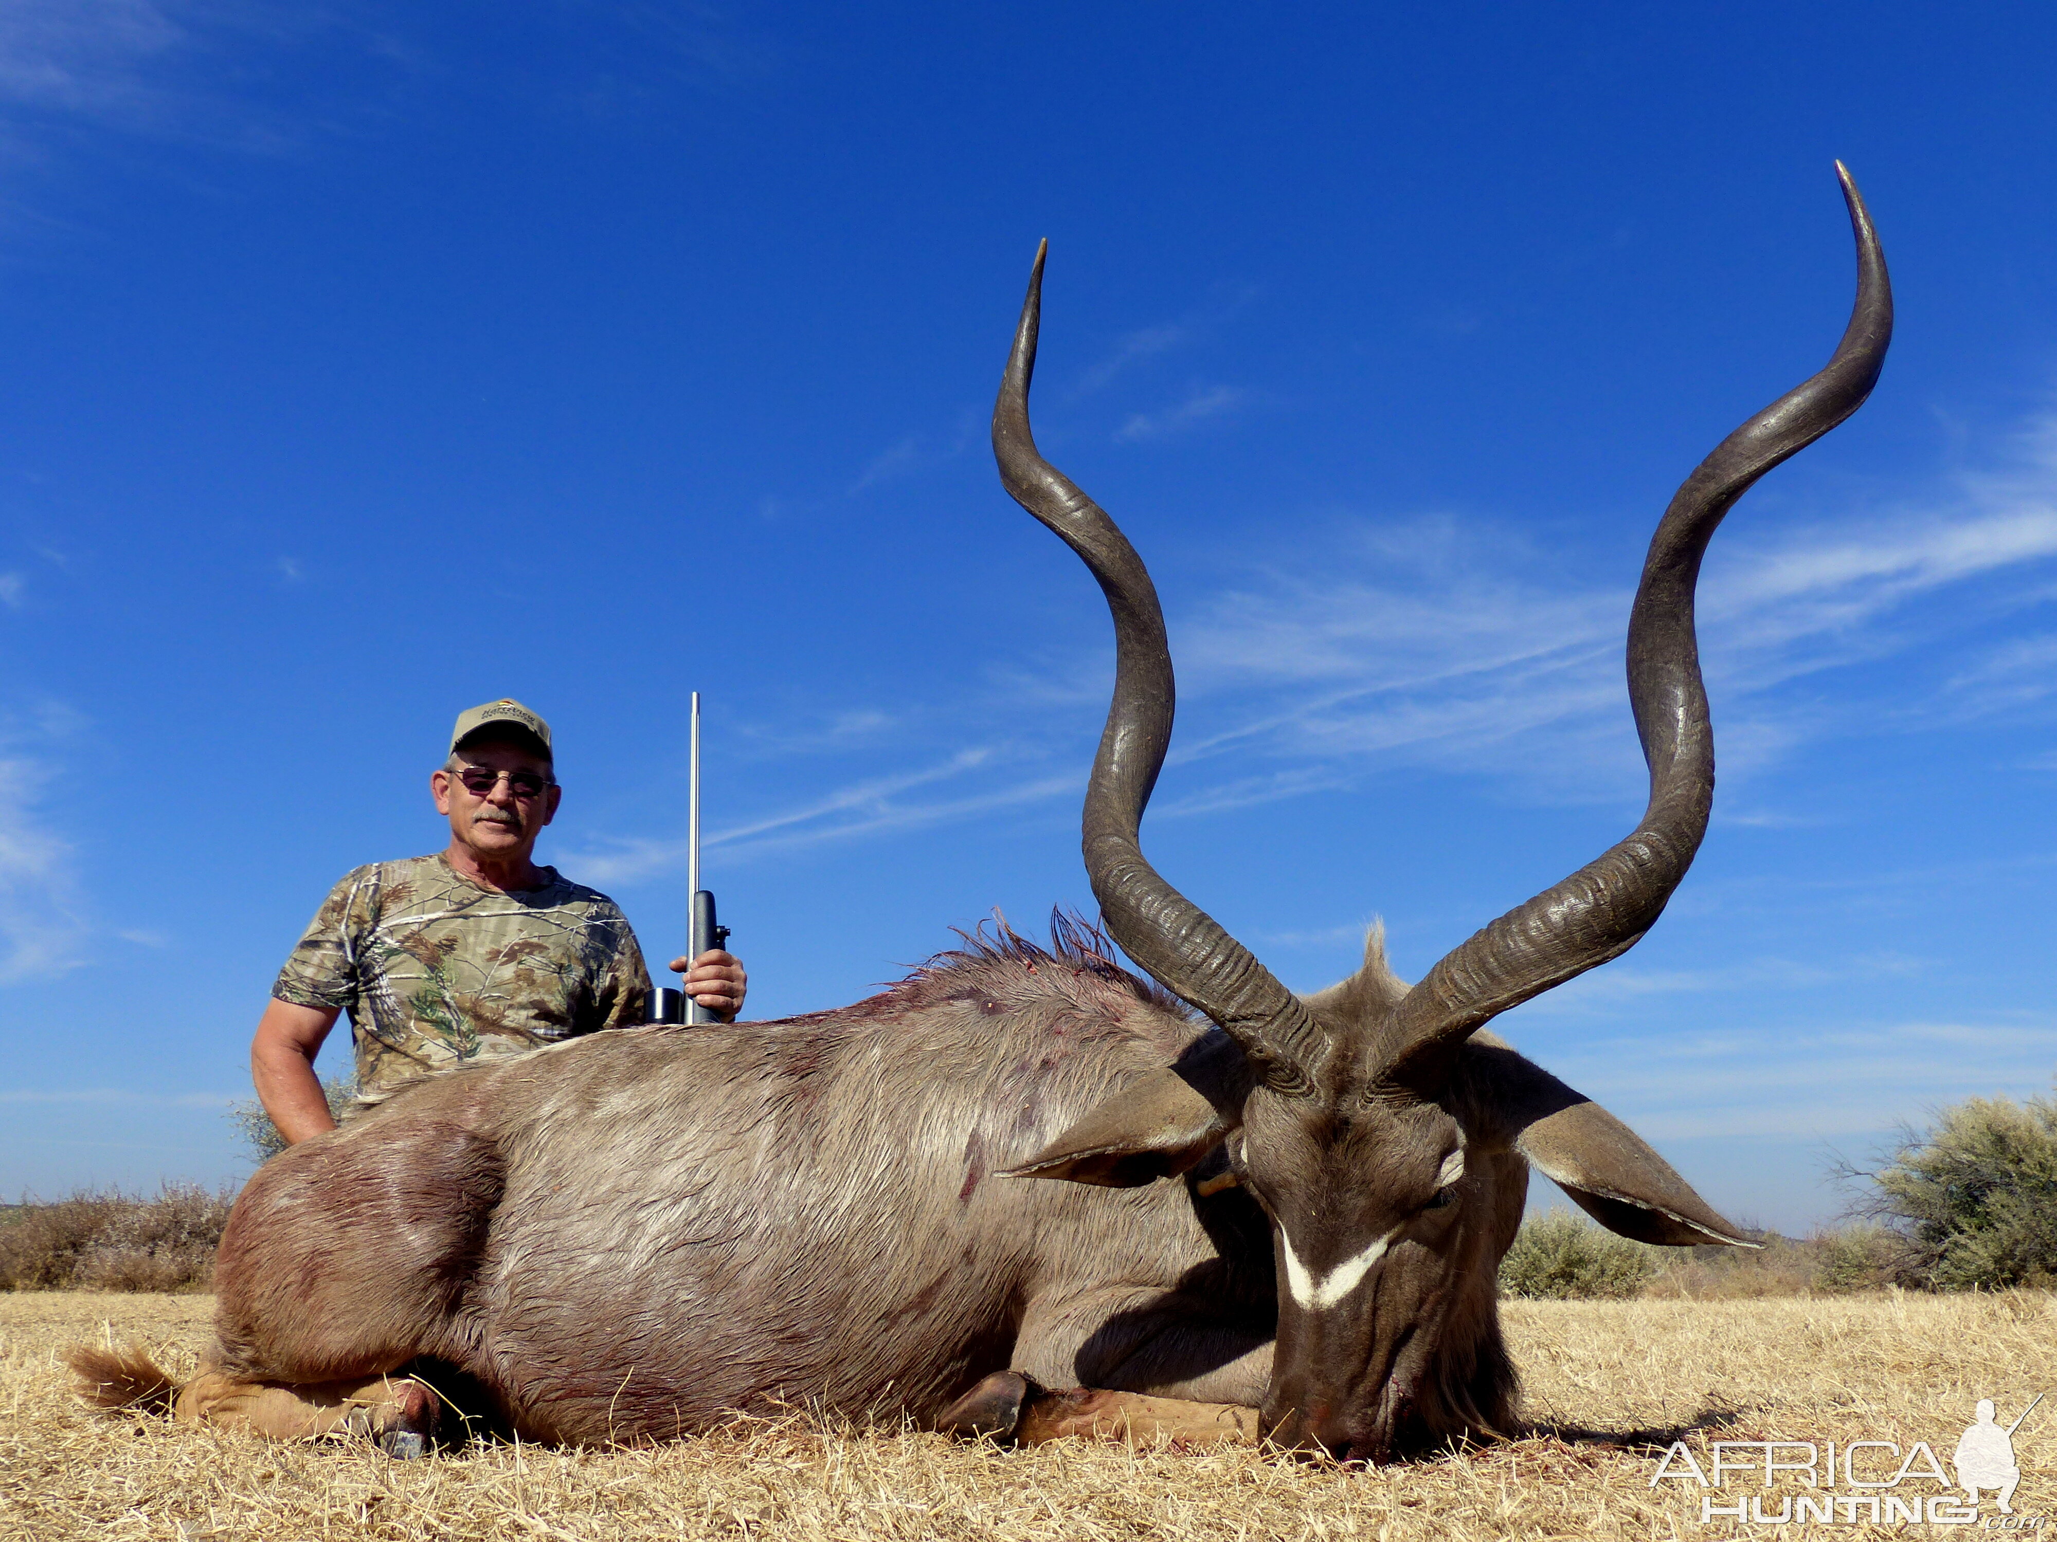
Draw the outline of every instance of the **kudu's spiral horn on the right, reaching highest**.
M1448 1051L1532 995L1641 940L1693 864L1713 806L1713 726L1699 678L1693 588L1722 516L1779 461L1849 417L1878 382L1892 339L1892 288L1872 216L1843 162L1835 175L1857 236L1857 304L1827 368L1785 393L1699 463L1650 541L1629 613L1629 703L1650 763L1641 824L1555 888L1444 956L1397 1009L1378 1079L1440 1077Z

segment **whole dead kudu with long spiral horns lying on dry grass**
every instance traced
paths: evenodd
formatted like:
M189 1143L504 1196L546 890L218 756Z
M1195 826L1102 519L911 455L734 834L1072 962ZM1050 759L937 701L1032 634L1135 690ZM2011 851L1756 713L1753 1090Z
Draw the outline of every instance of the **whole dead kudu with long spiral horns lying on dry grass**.
M1010 1367L1261 1404L1271 1437L1341 1458L1506 1431L1495 1264L1530 1166L1625 1236L1744 1240L1481 1028L1633 946L1701 841L1701 551L1757 477L1855 411L1890 333L1847 175L1843 191L1857 304L1841 347L1722 442L1650 547L1627 652L1641 824L1419 985L1374 935L1364 968L1312 997L1138 845L1172 670L1135 551L1028 432L1039 253L994 448L1115 619L1084 808L1105 925L1199 1016L1059 923L1049 952L1002 931L839 1012L444 1073L251 1178L216 1273L220 1365L311 1384L432 1361L520 1435L584 1443L790 1404L954 1423L948 1404Z

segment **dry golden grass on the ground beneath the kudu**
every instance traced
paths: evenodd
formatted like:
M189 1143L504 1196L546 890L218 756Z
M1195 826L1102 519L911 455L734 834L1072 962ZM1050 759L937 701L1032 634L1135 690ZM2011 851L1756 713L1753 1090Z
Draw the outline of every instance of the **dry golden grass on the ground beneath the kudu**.
M366 1445L93 1415L72 1398L64 1347L140 1338L183 1371L210 1308L200 1295L0 1295L0 1538L1728 1538L1734 1523L1701 1526L1699 1491L1650 1489L1676 1429L1695 1447L1929 1441L1948 1462L1977 1398L2012 1419L2057 1390L2057 1301L2022 1291L1514 1301L1537 1431L1374 1472L1253 1449L996 1452L806 1419L662 1449L485 1447L399 1464ZM2022 1515L2057 1517L2053 1404L2016 1435Z

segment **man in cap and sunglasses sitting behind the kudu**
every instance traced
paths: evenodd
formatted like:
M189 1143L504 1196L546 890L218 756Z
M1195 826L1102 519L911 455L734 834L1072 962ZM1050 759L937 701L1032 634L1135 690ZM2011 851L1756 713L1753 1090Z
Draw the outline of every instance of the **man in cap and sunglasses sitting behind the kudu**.
M450 845L348 874L257 1022L251 1075L288 1145L335 1129L315 1055L341 1012L358 1106L455 1065L644 1022L650 972L627 919L531 859L564 796L549 724L512 699L461 713L428 787ZM671 968L734 1020L749 989L736 958L714 950Z

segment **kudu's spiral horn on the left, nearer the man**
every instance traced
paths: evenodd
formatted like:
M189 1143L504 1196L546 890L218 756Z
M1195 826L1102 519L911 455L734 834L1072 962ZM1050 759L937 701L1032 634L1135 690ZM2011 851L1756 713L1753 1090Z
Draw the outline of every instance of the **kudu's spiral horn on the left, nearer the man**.
M1022 508L1055 530L1100 580L1115 617L1115 699L1086 787L1086 876L1107 931L1160 985L1205 1012L1279 1092L1308 1092L1329 1053L1327 1036L1300 999L1205 911L1166 884L1138 841L1144 806L1170 744L1175 687L1164 611L1135 547L1098 504L1045 461L1028 430L1043 313L1043 257L1037 249L1014 352L994 403L994 458L1000 481Z

